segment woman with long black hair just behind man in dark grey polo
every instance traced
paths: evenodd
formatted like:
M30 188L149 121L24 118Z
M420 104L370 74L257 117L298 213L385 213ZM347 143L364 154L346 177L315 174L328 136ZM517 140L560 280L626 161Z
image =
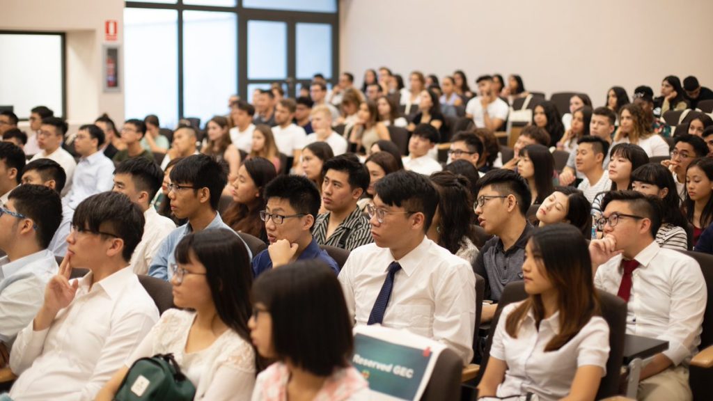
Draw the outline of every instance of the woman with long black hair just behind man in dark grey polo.
M532 204L543 203L545 198L555 191L552 183L555 176L555 158L547 146L539 143L525 146L518 156L518 173L528 182Z

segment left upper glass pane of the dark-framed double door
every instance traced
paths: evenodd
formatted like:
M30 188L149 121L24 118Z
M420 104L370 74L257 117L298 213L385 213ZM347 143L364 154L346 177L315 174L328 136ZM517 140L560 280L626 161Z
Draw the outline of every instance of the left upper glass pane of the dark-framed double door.
M247 77L287 78L287 23L247 21Z

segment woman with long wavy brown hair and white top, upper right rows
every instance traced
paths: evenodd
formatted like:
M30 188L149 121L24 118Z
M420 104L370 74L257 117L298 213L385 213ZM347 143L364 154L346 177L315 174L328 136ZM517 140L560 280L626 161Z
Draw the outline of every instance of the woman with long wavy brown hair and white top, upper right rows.
M619 128L614 134L614 142L633 143L641 146L649 157L669 156L668 143L660 135L651 132L649 119L644 109L636 103L622 106L619 111Z

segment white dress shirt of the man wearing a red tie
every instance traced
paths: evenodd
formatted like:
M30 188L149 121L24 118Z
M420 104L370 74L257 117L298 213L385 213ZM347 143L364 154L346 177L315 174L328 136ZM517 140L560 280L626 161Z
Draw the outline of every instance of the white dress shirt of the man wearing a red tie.
M640 267L632 273L627 333L668 341L663 354L674 365L687 363L701 342L707 300L698 262L676 250L660 248L655 241L634 259ZM616 295L623 274L621 261L622 255L617 255L597 268L597 288Z

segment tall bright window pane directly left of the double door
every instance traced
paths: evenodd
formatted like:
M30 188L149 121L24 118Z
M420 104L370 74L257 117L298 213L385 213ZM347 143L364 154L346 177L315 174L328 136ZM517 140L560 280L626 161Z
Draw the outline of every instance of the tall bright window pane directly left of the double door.
M183 11L183 114L206 123L237 93L237 14Z

